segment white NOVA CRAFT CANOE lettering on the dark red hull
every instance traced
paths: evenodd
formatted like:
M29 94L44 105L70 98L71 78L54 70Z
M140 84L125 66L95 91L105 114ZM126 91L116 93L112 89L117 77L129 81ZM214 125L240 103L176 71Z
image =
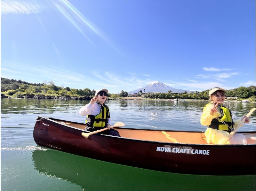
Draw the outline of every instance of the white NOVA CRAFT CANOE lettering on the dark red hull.
M156 147L158 152L169 152L169 153L183 153L183 154L193 154L193 155L210 155L210 150L204 149L188 149L189 147ZM190 147L191 148L191 147Z

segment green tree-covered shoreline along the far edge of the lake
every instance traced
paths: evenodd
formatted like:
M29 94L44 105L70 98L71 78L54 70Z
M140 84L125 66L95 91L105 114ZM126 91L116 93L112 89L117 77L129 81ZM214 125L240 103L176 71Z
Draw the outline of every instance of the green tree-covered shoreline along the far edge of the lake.
M174 94L169 93L152 93L148 92L140 96L146 98L159 98L159 99L209 99L209 90L202 92ZM144 90L145 91L145 90ZM147 90L146 90L147 91ZM255 101L255 86L239 87L235 89L226 90L226 97L237 96L241 99L249 99ZM58 87L54 82L48 83L28 83L21 80L13 80L1 77L1 98L17 97L17 98L32 98L32 99L91 99L95 95L95 90L90 88L75 89L69 87ZM128 93L124 90L120 94L107 95L110 98L116 99L118 97L127 97Z

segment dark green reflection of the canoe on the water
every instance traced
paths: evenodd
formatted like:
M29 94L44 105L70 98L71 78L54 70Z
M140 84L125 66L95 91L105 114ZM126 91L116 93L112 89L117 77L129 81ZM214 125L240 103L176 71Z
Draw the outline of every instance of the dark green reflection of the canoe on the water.
M34 150L32 160L38 173L70 181L84 190L223 190L225 185L228 190L255 190L255 176L201 176L151 171L51 149Z

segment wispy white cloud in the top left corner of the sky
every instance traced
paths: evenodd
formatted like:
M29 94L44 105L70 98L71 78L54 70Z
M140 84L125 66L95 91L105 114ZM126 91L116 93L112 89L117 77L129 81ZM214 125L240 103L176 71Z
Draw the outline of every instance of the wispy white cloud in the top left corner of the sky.
M35 2L28 3L22 1L1 1L1 14L32 14L40 13L46 9L45 5Z

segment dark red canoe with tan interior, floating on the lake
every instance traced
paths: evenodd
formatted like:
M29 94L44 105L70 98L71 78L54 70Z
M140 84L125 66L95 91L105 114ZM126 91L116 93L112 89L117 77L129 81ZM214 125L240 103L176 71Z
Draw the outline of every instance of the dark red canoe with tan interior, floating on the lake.
M115 128L121 137L93 134L85 139L81 134L89 132L84 128L83 123L38 116L33 136L42 147L145 169L202 175L255 174L255 144L212 145L204 140L204 132L164 133L124 127ZM255 136L255 132L243 133Z

